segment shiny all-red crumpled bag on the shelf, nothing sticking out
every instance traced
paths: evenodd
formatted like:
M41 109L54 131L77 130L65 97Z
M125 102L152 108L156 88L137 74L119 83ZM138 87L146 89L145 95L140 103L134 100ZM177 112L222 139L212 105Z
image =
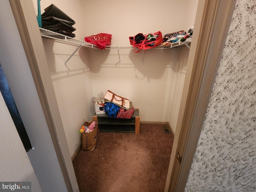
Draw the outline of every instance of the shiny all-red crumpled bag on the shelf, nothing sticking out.
M111 34L99 33L85 37L84 41L96 45L99 49L105 49L107 45L111 45L111 38Z

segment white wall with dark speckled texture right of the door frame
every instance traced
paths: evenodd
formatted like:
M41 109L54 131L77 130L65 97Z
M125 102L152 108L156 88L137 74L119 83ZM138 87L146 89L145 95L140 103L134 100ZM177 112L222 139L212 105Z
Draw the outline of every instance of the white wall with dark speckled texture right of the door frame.
M186 192L256 191L255 7L236 3Z

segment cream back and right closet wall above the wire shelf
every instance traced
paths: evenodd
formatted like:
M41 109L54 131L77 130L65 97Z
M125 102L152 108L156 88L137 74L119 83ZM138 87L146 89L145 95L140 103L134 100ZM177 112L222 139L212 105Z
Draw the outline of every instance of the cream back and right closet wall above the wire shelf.
M198 0L82 0L84 35L112 34L112 45L130 45L129 36L161 31L187 31L196 16Z

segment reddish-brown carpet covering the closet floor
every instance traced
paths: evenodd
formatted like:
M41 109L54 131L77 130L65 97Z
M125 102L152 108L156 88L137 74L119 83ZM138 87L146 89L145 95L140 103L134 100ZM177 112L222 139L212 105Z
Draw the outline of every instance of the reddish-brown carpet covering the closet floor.
M100 132L94 150L73 160L80 192L163 192L173 139L159 124L140 124L138 135Z

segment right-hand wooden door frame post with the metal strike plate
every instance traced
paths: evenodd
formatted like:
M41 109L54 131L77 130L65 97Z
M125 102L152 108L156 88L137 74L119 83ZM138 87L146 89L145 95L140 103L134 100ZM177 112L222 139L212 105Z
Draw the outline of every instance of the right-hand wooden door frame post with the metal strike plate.
M186 187L235 4L236 0L198 2L165 192Z

